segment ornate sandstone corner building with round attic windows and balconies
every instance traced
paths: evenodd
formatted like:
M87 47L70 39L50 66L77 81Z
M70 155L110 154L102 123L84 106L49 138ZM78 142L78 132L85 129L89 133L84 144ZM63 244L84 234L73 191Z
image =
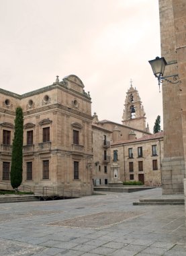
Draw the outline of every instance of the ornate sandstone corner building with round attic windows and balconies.
M0 181L9 182L15 108L24 111L24 185L62 186L91 195L91 98L68 75L33 92L0 90Z

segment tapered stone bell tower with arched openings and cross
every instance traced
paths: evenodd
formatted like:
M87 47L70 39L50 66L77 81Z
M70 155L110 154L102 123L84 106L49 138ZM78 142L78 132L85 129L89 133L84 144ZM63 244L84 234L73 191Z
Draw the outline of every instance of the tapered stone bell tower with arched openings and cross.
M132 86L132 80L130 81L130 89L126 94L125 108L122 117L123 125L149 132L148 125L146 127L144 107L142 106L138 91Z

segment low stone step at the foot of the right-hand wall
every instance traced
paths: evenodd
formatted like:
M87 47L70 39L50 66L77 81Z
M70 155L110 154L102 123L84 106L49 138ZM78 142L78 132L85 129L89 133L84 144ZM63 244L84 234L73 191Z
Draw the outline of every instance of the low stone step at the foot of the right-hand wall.
M184 205L184 199L140 199L133 205Z

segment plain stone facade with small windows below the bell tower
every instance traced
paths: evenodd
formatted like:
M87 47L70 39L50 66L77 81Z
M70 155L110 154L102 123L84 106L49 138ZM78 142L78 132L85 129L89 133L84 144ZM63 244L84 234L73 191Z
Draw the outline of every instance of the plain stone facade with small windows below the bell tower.
M118 150L121 181L142 181L147 186L161 185L163 132L145 135L140 139L111 144Z

